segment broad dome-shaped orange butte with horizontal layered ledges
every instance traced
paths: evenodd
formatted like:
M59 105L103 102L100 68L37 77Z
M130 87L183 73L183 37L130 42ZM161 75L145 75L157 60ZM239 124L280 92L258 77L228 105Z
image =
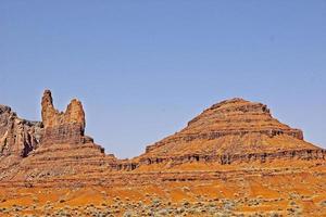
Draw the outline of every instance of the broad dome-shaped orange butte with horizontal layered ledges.
M325 151L305 142L301 130L273 118L266 105L233 99L214 104L185 129L147 146L137 159L148 164L193 159L229 164L309 155L324 157Z

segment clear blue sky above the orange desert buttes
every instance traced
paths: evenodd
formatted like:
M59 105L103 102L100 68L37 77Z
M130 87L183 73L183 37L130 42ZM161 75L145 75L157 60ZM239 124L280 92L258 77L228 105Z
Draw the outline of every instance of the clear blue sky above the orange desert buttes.
M0 1L0 103L40 119L43 89L130 157L211 104L260 101L326 146L326 1Z

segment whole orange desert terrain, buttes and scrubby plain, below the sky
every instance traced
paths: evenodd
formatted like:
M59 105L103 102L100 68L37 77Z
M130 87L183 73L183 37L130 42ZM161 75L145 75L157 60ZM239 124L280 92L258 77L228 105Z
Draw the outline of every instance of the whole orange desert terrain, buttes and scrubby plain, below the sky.
M326 216L326 150L264 104L214 104L131 159L85 135L78 100L46 90L41 118L0 105L0 216Z

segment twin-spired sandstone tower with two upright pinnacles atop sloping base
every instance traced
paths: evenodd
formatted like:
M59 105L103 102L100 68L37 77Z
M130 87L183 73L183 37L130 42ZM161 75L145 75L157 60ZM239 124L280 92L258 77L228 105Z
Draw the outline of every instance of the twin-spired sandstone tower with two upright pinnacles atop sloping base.
M82 102L74 99L65 112L59 112L53 106L50 90L46 90L41 101L41 116L45 126L42 144L49 143L87 143L92 139L85 133L85 112Z

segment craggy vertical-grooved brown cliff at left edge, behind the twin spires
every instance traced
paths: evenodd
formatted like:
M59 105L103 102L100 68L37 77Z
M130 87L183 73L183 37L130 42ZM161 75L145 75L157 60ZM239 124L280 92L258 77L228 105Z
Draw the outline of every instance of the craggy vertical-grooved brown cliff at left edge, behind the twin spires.
M0 105L0 157L25 157L35 150L42 135L40 122L20 118L11 107Z

